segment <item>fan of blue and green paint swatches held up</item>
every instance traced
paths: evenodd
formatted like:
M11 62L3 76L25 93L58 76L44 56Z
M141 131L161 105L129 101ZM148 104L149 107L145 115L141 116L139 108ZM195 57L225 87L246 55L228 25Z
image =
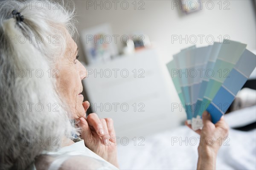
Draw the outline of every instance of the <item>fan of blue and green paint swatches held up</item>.
M218 122L255 67L255 54L231 40L192 46L173 56L167 68L193 130L203 126L205 110Z

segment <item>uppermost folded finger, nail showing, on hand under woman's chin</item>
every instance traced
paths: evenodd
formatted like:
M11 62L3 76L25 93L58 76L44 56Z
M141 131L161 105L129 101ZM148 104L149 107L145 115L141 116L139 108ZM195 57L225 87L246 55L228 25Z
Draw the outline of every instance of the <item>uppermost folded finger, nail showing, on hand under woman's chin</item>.
M100 121L100 119L96 113L90 113L87 116L86 120L87 120L88 125L92 126L99 136L104 135L104 129L103 129L102 122Z

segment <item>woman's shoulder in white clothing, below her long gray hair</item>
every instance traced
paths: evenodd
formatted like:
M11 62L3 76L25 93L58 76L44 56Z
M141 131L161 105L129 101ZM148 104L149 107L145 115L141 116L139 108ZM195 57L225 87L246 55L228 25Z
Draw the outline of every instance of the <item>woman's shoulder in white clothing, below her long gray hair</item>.
M56 152L44 152L35 159L36 170L41 169L117 169L102 157L85 147L80 138ZM32 168L33 169L33 168Z

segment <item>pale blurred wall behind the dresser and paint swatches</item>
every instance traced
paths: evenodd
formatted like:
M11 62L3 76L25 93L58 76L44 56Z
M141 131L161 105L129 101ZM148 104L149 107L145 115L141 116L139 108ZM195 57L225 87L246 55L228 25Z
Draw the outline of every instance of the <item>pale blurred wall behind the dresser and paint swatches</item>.
M112 8L107 10L100 9L97 6L87 6L88 3L100 3L100 0L87 1L75 0L76 9L78 12L77 19L79 20L78 30L97 26L101 23L110 23L113 34L127 35L133 31L141 31L148 34L150 40L154 42L158 53L164 62L172 58L172 54L180 51L181 48L186 48L183 40L182 43L175 41L172 43L172 35L212 35L216 41L218 36L228 35L231 40L236 40L247 44L247 48L251 51L256 48L256 18L252 0L229 0L229 10L223 10L228 3L221 1L221 10L219 9L219 0L213 0L214 8L211 8L210 3L206 6L205 0L202 10L192 14L183 14L179 7L174 6L174 1L171 0L144 0L144 10L134 10L134 1L128 1L129 8L123 10L120 6L122 1L118 1L117 9L114 7L112 0ZM179 2L179 1L176 1ZM102 1L102 4L104 1ZM137 1L137 7L140 6ZM106 4L107 5L107 4ZM172 9L173 8L173 9ZM208 8L208 9L207 9ZM210 40L210 39L209 39ZM117 46L121 50L122 43L117 41ZM207 45L205 37L200 43L200 37L196 44ZM78 42L80 48L81 43ZM80 50L80 55L83 55ZM83 57L81 57L83 60Z

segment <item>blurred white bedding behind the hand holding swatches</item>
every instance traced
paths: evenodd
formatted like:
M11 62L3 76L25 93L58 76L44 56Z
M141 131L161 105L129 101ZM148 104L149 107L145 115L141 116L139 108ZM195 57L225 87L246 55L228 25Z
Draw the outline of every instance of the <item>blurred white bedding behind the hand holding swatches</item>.
M186 140L180 145L175 139ZM144 146L129 141L127 146L118 145L121 169L196 169L199 139L198 134L186 126L167 130L145 137ZM222 146L218 152L217 169L256 169L256 130L242 132L230 129L229 146ZM189 144L190 141L190 144ZM173 142L173 143L172 143ZM187 146L186 146L187 144Z

